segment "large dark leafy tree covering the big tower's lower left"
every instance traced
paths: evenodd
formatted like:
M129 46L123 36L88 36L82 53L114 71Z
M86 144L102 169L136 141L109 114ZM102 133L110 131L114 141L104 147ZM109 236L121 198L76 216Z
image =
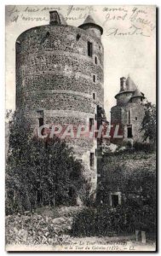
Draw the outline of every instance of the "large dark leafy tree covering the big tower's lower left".
M6 212L76 204L83 190L83 166L72 148L58 137L35 137L30 122L19 112L9 121L9 131Z

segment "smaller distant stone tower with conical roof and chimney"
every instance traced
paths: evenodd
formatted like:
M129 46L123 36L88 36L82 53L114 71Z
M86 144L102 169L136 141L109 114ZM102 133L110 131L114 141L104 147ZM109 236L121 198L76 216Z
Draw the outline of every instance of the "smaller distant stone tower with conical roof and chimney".
M119 135L123 138L112 138L114 143L143 142L141 123L145 114L145 96L128 77L120 79L120 91L115 96L117 105L111 108L111 123L119 125Z

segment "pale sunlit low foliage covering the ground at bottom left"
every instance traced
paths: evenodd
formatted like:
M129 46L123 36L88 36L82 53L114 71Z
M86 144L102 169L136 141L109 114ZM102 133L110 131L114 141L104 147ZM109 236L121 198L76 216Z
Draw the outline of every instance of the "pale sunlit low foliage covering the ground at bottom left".
M72 228L71 218L44 218L33 214L6 217L6 243L26 245L55 245L66 238Z

